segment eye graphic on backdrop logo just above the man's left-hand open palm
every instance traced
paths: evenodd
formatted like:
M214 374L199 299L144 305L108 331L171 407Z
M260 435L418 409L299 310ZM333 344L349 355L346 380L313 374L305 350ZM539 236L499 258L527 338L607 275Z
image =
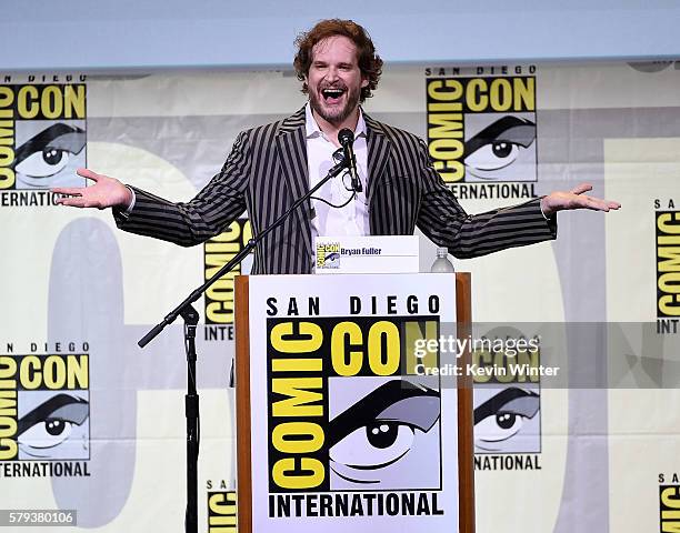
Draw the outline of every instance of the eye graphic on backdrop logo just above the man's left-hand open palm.
M17 149L14 170L29 181L50 178L61 172L84 144L86 132L80 128L53 124Z

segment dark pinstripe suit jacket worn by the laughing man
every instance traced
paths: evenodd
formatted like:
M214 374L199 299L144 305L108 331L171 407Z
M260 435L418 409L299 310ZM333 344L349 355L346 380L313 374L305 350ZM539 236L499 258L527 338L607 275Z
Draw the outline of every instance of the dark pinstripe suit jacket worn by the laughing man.
M370 231L412 234L418 225L458 258L554 239L539 200L468 215L432 169L424 142L364 114L368 144ZM222 232L248 210L253 232L269 227L309 190L304 108L270 124L241 132L221 171L187 203L172 203L134 189L134 208L120 229L174 242L198 244ZM253 273L311 270L309 208L298 208L256 250Z

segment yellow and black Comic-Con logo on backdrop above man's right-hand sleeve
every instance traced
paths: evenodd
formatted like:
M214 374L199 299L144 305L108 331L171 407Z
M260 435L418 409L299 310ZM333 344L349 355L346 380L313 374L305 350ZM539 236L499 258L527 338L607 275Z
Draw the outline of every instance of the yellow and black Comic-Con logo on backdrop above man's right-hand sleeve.
M456 195L536 198L536 67L424 73L429 155Z

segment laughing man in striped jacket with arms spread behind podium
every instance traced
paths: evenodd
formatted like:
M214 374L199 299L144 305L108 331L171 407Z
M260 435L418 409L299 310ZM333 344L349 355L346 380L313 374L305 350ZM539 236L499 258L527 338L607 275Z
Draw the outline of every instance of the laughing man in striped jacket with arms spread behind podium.
M180 245L221 233L248 211L258 234L333 165L342 130L353 132L356 174L320 189L256 249L253 273L309 273L316 235L427 237L459 258L554 239L557 211L609 211L620 204L586 195L588 184L469 215L433 169L422 140L366 114L382 60L359 24L323 20L298 40L294 68L307 104L291 117L241 132L221 171L189 202L172 203L88 169L94 183L57 188L77 208L113 208L118 227ZM502 147L501 147L502 148ZM499 152L502 155L502 150Z

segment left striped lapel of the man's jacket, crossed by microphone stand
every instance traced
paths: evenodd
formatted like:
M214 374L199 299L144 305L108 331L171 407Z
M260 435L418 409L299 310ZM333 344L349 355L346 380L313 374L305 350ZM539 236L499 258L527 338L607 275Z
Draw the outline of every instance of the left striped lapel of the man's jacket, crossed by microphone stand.
M292 201L296 201L309 191L304 108L281 122L276 143L283 177L290 188ZM301 228L304 229L302 232L303 245L307 254L311 257L311 225L308 208L308 205L300 205L296 209L293 217L298 217Z

